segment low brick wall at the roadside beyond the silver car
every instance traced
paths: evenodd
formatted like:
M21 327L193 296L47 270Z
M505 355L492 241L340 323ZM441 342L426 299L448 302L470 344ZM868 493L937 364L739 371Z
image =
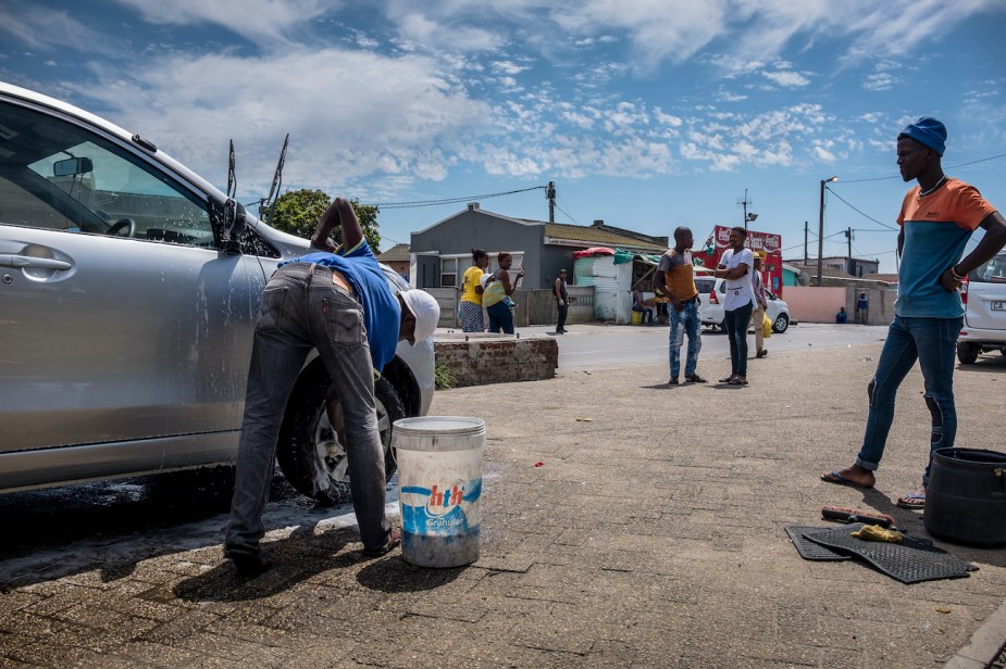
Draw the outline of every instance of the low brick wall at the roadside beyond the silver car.
M538 381L556 376L559 344L552 338L476 337L433 342L436 362L448 367L454 387Z

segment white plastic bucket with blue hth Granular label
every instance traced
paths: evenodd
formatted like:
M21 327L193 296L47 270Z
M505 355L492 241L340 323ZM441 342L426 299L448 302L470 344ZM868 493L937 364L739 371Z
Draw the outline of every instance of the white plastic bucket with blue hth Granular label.
M485 421L426 416L395 421L401 556L419 567L479 559Z

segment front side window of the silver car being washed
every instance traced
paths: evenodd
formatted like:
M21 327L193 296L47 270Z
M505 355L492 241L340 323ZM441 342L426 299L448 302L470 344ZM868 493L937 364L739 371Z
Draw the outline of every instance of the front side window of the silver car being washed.
M0 223L215 244L204 203L114 142L13 104L0 137Z

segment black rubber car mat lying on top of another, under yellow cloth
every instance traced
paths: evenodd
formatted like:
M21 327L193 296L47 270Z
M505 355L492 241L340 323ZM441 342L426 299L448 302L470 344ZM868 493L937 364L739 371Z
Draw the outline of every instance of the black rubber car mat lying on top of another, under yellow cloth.
M956 555L947 553L911 537L899 544L864 541L852 535L861 522L828 531L808 531L804 534L814 543L864 559L891 578L903 583L919 583L936 579L956 579L978 569Z

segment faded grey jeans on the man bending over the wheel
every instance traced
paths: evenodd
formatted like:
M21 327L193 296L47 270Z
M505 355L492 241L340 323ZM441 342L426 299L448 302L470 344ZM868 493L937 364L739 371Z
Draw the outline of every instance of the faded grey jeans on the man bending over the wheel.
M234 498L224 530L228 555L259 551L280 426L312 349L318 349L343 405L349 489L363 547L378 548L387 542L392 525L384 514L384 449L363 310L332 282L331 269L294 263L280 267L269 280L256 318Z

